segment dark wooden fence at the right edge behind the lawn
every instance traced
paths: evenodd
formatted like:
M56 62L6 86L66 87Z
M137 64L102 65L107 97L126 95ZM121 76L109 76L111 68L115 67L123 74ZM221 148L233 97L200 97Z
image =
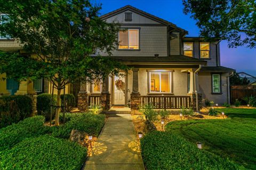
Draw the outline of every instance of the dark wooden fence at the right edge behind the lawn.
M256 97L256 85L235 85L230 86L230 102L235 103L235 100L242 100L244 97Z

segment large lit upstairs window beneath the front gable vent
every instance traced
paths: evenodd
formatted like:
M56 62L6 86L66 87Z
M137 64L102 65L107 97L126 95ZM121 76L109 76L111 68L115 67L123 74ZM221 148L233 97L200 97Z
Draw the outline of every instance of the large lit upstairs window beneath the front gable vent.
M139 29L119 31L118 49L139 49Z

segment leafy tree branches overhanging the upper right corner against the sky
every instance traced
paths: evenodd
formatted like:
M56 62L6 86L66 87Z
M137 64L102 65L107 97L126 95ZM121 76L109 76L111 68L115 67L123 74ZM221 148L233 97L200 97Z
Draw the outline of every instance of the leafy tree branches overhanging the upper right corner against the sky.
M227 39L229 47L256 47L255 0L182 0L201 36Z

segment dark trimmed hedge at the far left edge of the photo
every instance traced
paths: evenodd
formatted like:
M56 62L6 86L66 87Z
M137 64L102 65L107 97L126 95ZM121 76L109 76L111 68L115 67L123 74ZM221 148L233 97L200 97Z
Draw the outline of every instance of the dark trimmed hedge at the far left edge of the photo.
M0 128L18 123L30 116L32 100L28 96L2 96L0 97Z

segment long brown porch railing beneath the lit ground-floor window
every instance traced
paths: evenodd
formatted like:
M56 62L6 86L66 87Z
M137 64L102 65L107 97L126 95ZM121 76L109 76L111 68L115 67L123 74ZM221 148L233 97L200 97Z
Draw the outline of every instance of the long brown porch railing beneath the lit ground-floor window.
M156 109L180 109L190 107L190 96L141 96L141 106L146 104L153 104Z

